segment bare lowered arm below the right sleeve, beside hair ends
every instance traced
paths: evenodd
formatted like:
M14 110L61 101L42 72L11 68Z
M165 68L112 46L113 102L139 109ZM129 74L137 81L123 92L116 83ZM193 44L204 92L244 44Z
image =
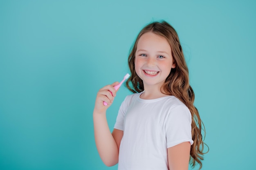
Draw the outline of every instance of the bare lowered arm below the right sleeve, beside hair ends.
M191 144L189 142L182 142L168 148L169 170L189 169L190 147Z

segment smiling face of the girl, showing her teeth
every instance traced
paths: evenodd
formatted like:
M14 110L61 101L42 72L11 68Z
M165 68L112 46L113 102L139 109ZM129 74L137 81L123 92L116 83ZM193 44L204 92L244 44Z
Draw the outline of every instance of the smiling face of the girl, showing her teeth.
M147 86L161 88L171 68L175 68L175 64L167 40L152 32L141 35L135 53L135 71L143 80L144 89Z

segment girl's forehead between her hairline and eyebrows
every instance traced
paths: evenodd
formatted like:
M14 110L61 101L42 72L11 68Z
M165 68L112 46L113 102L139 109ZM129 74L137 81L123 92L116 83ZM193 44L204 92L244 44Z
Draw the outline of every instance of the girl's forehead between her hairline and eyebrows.
M141 35L137 42L137 51L141 49L147 51L157 50L171 52L171 46L166 38L153 32L148 32Z

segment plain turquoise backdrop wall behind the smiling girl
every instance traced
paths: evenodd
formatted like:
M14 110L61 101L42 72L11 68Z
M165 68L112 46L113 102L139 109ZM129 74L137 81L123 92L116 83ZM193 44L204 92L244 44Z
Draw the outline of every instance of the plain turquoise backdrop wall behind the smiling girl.
M0 0L0 169L117 170L94 144L97 91L148 22L180 36L206 126L202 170L255 170L256 1ZM112 130L122 86L107 117Z

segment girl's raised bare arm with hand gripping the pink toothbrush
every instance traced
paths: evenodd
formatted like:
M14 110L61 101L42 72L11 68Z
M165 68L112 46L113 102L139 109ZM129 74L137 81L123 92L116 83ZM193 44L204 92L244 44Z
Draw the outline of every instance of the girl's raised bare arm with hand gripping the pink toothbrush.
M99 155L106 166L114 166L118 163L119 146L117 145L115 138L119 139L120 135L122 135L119 132L114 133L115 138L112 136L106 118L106 110L111 106L116 95L115 88L113 88L116 84L118 84L118 82L105 86L99 90L93 111L95 143ZM108 105L104 106L103 101L107 102Z

